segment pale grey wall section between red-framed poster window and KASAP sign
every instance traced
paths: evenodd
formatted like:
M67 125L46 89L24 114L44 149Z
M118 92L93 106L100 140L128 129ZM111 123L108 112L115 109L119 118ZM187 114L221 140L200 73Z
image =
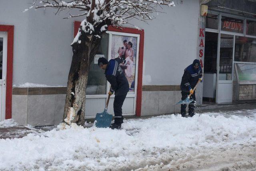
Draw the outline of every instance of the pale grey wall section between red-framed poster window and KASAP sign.
M180 2L180 0L178 0ZM176 0L174 1L176 4ZM196 59L199 1L166 7L144 29L143 85L179 85L184 69Z

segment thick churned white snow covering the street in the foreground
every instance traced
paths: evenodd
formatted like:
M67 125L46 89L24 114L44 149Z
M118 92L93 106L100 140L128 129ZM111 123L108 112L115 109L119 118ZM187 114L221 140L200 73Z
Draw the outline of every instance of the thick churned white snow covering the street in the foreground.
M71 125L0 139L0 170L255 170L256 109ZM133 130L131 130L133 129Z

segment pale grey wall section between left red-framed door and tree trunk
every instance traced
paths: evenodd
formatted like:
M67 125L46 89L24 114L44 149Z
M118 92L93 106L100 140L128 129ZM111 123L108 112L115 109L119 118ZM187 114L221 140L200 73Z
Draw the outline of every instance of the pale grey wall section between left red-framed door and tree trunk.
M13 84L66 85L74 20L55 16L50 9L22 12L31 2L0 1L0 24L14 25Z

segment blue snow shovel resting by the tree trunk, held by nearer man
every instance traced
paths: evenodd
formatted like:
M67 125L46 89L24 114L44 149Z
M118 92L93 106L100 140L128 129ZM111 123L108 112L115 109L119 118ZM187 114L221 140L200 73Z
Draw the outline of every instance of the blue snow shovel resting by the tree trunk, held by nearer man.
M110 98L110 95L108 95L108 99L107 99L107 102L106 102L106 106L105 106L105 109L102 113L97 113L96 114L96 117L95 117L95 125L96 127L98 128L107 128L110 126L110 123L112 121L112 115L110 115L107 110L108 110L108 102L109 102L109 98Z

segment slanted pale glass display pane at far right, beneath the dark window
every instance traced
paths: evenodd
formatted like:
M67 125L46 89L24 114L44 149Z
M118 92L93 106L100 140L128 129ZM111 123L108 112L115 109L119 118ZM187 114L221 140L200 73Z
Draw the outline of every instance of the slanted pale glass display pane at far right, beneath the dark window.
M256 81L256 64L236 63L238 81Z

